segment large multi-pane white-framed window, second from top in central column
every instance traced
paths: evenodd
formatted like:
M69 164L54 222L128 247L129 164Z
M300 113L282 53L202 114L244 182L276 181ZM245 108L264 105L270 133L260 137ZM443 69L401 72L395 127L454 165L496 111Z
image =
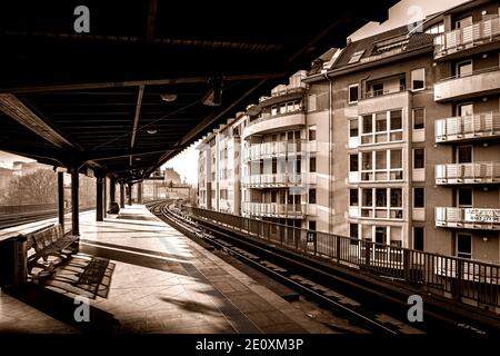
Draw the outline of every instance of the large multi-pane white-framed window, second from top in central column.
M376 150L361 154L361 181L402 180L402 150Z

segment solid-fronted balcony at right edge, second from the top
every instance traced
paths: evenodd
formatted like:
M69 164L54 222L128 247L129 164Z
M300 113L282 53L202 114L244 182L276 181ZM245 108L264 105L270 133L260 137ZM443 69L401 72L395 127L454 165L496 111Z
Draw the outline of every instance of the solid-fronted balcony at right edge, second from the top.
M476 70L471 75L451 77L434 83L434 101L463 100L500 92L499 67Z

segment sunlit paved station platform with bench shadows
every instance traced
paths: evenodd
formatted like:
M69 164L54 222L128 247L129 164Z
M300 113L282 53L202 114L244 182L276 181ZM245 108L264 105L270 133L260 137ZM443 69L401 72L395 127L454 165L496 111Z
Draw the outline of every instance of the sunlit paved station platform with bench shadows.
M77 296L90 322L76 322ZM0 333L88 330L332 333L141 205L104 221L80 214L77 255L43 284L0 291Z

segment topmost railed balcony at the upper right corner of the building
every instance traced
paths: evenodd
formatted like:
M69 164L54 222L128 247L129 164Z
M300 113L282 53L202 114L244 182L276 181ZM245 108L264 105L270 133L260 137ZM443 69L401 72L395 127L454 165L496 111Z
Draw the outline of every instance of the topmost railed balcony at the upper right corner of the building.
M472 23L471 26L444 32L434 38L434 58L448 57L453 53L474 49L479 46L496 42L500 39L500 20L494 17Z

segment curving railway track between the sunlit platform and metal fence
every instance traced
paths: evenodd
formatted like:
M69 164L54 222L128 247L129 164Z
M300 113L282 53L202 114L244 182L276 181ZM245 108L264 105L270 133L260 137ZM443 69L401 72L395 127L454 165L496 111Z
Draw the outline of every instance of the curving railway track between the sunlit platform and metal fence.
M201 226L177 210L172 201L157 201L147 206L152 214L180 229L182 233L190 234L197 240L202 241L202 244L209 244L254 267L291 289L312 298L321 307L333 312L339 317L348 319L353 325L372 333L384 335L421 333L421 330L413 326L406 325L384 313L373 312L372 308L346 297L326 284L311 280L308 278L308 275L299 273L304 266L299 265L297 261L287 260L284 256L274 256L276 258L272 259L268 258L269 250L264 248L254 245L251 248L249 248L250 246L241 246L241 244L236 244L229 235L223 236L220 231ZM294 268L292 265L294 265Z

